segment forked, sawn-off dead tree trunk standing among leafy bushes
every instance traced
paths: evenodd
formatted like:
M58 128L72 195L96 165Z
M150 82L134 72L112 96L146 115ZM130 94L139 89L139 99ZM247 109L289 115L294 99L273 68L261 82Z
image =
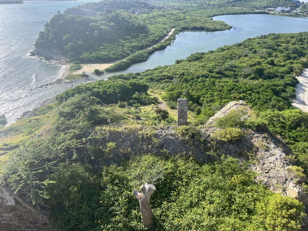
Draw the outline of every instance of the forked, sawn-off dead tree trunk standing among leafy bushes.
M140 187L141 193L139 193L136 189L134 191L134 196L139 201L144 227L148 229L152 228L154 222L154 215L150 207L150 197L155 190L156 188L153 184L145 183Z

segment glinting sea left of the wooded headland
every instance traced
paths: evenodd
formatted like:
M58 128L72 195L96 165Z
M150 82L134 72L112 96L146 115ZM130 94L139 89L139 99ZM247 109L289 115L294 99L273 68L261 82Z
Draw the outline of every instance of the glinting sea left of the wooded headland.
M12 123L25 111L67 89L72 83L54 84L61 66L29 57L46 22L60 10L92 1L25 1L0 5L0 114Z

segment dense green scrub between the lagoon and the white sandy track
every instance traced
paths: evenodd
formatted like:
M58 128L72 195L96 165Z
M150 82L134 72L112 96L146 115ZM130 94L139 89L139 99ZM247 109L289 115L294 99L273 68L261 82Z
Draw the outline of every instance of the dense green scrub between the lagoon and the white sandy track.
M165 91L164 99L180 97L202 106L204 123L233 96L255 110L291 107L298 83L294 74L308 66L308 33L269 34L215 51L196 53L172 66L156 67L135 75L150 87Z

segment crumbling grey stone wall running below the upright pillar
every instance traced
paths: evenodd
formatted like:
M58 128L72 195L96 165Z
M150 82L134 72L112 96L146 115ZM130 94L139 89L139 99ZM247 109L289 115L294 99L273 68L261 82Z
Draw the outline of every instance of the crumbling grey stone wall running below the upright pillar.
M230 143L211 137L217 129L220 128L200 128L198 137L186 140L177 134L175 127L157 129L140 126L129 131L125 127L112 126L102 127L97 133L93 133L90 139L96 147L105 147L109 142L116 145L115 149L108 153L109 162L101 164L120 164L140 153L191 155L202 162L215 160L223 154L239 161L254 160L250 169L258 173L256 181L275 192L298 198L308 205L308 195L302 193L300 184L296 185L298 179L288 171L291 165L287 158L290 149L278 137L268 130L255 132L242 129L245 137Z

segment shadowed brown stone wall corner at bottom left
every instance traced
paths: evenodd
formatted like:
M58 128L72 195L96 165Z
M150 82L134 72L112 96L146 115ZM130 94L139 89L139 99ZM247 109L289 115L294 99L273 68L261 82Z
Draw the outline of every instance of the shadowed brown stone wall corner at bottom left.
M50 220L6 187L0 188L1 231L50 231Z

